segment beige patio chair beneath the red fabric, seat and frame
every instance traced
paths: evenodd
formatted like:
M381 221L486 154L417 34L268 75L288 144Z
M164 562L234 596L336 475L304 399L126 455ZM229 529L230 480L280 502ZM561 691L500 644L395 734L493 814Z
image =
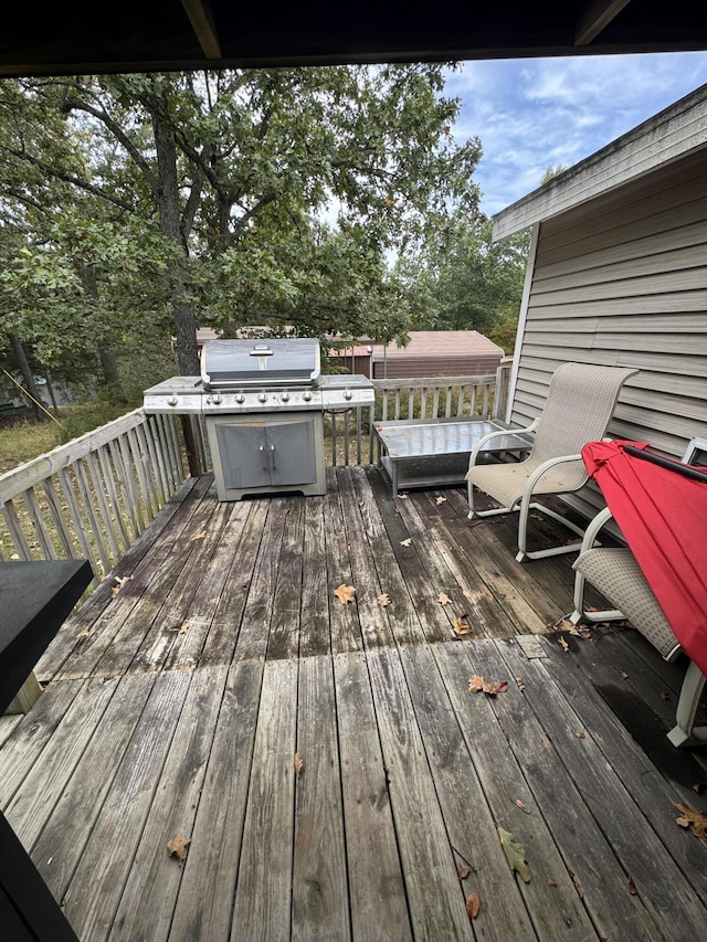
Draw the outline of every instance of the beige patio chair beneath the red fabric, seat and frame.
M576 625L582 620L611 622L627 618L663 658L672 663L683 650L682 645L631 550L627 547L592 548L597 533L612 516L611 510L604 507L587 528L582 549L573 564L574 611L569 621ZM585 582L590 582L616 607L603 612L585 608ZM707 743L707 727L694 726L705 680L699 667L690 660L680 688L675 727L667 734L673 745Z

